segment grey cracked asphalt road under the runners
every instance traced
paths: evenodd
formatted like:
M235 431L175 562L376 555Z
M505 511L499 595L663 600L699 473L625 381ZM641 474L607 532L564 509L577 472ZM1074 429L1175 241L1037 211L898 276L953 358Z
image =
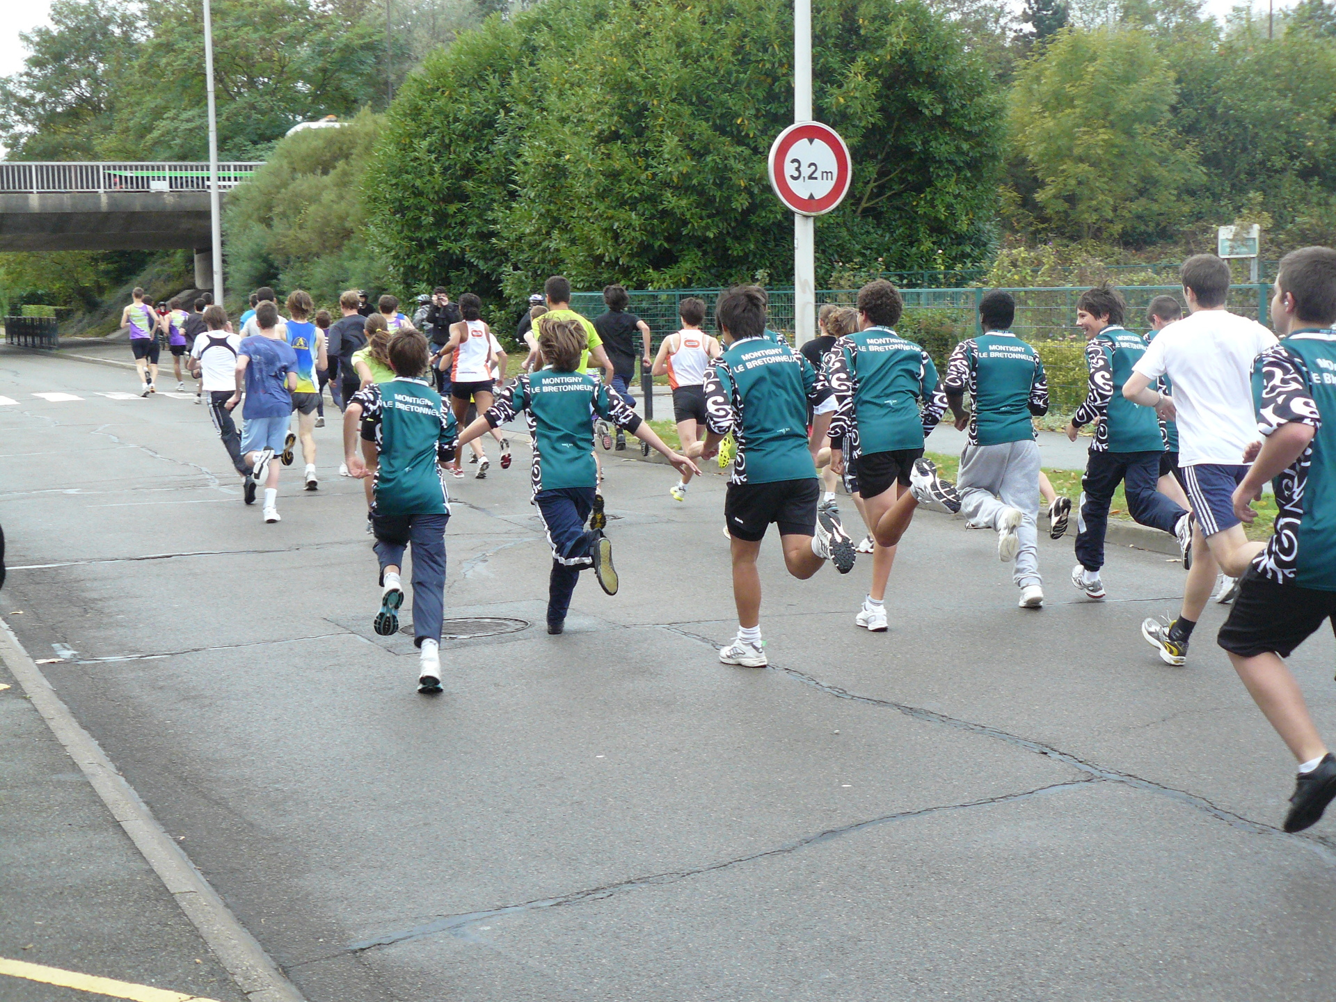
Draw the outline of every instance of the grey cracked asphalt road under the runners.
M311 1002L1336 991L1336 816L1279 831L1293 766L1213 644L1224 609L1185 668L1140 637L1177 562L1113 548L1092 604L1045 538L1026 612L989 534L922 516L868 635L868 566L792 581L771 542L772 665L729 668L723 480L677 505L613 458L621 593L582 581L549 637L517 449L453 485L446 615L540 625L448 641L424 697L409 640L370 629L337 422L319 492L294 466L265 525L203 407L96 395L134 383L0 357L0 613ZM1332 657L1293 659L1328 733Z

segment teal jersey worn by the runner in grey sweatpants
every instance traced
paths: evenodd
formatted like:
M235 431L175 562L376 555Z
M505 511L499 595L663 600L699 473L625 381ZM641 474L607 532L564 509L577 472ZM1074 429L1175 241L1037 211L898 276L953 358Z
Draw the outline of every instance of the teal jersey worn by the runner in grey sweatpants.
M943 387L969 394L970 445L1034 438L1033 417L1049 413L1049 379L1039 354L1009 330L990 330L955 346Z

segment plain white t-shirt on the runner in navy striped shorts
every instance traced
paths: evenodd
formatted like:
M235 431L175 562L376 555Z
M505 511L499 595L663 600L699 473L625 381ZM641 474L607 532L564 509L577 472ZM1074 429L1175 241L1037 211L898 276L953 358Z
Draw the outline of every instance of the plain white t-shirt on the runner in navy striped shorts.
M1253 359L1275 343L1264 326L1225 310L1198 310L1156 334L1132 370L1173 382L1178 465L1242 465L1257 441Z

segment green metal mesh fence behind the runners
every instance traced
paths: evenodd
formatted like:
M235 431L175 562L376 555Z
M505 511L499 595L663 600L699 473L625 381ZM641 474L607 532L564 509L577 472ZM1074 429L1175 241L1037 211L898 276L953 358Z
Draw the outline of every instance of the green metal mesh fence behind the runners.
M1067 414L1085 397L1086 366L1085 337L1075 326L1077 299L1085 286L1062 286L1055 289L1025 287L1006 289L1017 302L1015 322L1011 330L1029 341L1039 351L1049 375L1049 393L1053 413ZM680 329L679 309L687 297L696 297L705 303L704 329L715 330L715 302L721 289L673 289L663 291L632 291L629 313L636 314L653 334L653 345ZM916 341L938 366L945 366L951 349L978 331L978 303L985 289L902 289L904 315L896 330ZM1128 303L1125 325L1130 330L1145 333L1146 307L1157 295L1172 295L1182 302L1182 287L1129 286L1120 287ZM1228 307L1233 313L1267 323L1267 306L1271 295L1268 285L1233 286L1229 290ZM816 293L816 306L824 303L854 306L858 290L839 289ZM591 319L604 311L601 293L574 293L570 309ZM770 327L794 343L794 290L770 290Z

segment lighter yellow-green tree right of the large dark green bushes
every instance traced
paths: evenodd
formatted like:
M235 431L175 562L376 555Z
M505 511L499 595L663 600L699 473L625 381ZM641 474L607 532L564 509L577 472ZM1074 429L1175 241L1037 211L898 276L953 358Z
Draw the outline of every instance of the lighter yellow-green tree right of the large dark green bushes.
M1173 234L1201 176L1173 102L1173 68L1144 31L1063 28L1026 61L1011 132L1041 226L1077 239Z

